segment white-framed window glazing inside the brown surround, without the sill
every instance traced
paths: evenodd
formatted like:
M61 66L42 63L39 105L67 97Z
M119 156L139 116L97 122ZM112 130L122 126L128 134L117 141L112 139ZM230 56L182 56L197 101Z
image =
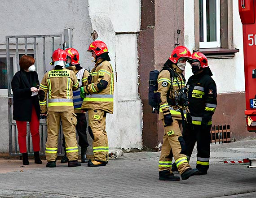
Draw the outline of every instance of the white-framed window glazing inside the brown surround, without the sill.
M221 47L220 0L199 0L200 48Z

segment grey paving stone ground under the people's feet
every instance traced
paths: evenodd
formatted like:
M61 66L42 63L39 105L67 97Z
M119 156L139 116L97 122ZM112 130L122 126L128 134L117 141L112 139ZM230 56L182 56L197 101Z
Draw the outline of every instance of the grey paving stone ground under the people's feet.
M256 192L256 169L223 164L223 159L256 156L256 140L212 145L211 151L208 174L185 181L158 180L160 152L126 153L111 159L106 167L91 168L82 164L67 168L67 164L58 163L57 168L1 173L0 197L215 198ZM195 156L194 151L190 161L193 167ZM21 161L16 163L21 164ZM2 166L0 164L0 168Z

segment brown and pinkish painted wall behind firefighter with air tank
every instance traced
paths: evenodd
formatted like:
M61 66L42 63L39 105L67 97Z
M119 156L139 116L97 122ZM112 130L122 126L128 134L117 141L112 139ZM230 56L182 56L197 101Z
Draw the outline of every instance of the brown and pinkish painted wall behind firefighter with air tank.
M143 103L143 148L157 151L163 138L158 114L148 105L149 72L161 69L177 43L184 43L183 0L141 0L141 31L138 38L139 93Z

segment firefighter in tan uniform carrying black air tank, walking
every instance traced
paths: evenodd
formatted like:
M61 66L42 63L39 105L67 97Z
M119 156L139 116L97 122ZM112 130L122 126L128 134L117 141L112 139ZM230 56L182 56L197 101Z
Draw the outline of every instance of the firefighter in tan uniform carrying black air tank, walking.
M180 180L179 176L174 176L172 173L172 157L175 159L182 180L198 172L188 164L185 142L181 135L181 123L185 121L186 116L184 106L187 105L187 97L184 100L179 96L183 95L181 91L185 90L185 77L182 73L190 56L187 47L176 47L159 73L157 90L160 104L159 120L162 120L164 126L163 146L159 158L159 180Z

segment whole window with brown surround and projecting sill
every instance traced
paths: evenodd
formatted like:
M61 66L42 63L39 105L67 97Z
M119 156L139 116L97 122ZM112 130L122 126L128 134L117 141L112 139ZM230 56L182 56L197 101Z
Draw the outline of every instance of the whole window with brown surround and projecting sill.
M194 50L208 59L233 58L233 0L194 0Z

